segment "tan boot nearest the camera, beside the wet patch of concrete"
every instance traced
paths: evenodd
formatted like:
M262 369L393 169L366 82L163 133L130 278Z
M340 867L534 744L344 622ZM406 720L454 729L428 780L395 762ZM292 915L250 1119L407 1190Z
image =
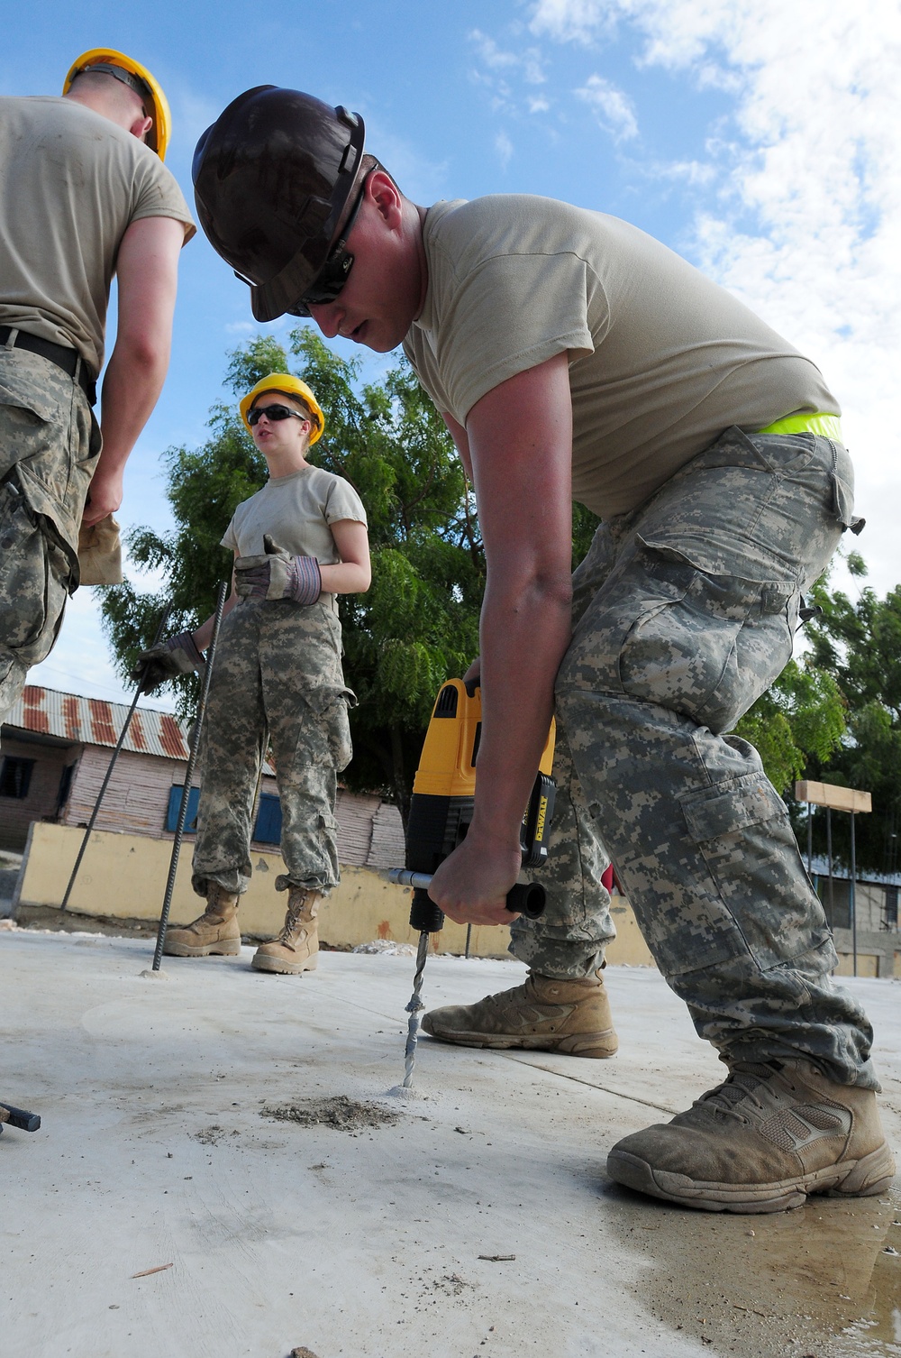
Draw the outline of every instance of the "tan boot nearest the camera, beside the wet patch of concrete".
M877 1096L809 1061L737 1063L670 1123L624 1137L611 1179L704 1211L787 1211L807 1194L864 1198L894 1175Z

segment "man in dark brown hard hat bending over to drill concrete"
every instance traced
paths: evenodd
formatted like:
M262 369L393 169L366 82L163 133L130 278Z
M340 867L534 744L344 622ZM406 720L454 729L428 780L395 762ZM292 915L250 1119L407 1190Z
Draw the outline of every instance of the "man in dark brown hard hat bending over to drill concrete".
M540 921L524 986L438 1009L474 1047L602 1057L609 851L661 972L727 1080L620 1141L608 1172L711 1211L882 1192L873 1032L786 807L729 735L791 655L802 593L854 517L814 364L626 221L505 194L415 206L361 120L263 86L201 139L197 206L258 319L403 344L474 482L487 559L475 818L430 895L502 923L556 714ZM570 580L571 500L604 520ZM602 831L602 845L598 831ZM507 917L509 918L509 917Z

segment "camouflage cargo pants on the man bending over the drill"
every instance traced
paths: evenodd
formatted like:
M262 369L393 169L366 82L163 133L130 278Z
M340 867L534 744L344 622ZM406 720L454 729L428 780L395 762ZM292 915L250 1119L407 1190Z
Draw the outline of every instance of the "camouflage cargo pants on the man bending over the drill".
M661 972L725 1058L801 1051L878 1088L786 805L753 746L725 735L788 661L851 488L840 444L729 429L597 530L556 679L548 907L514 923L510 949L550 975L596 967L615 936L609 851Z

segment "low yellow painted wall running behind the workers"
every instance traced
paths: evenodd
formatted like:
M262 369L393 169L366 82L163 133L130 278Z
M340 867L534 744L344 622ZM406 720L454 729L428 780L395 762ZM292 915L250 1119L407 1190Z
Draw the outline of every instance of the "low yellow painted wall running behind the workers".
M24 860L19 904L58 907L75 865L84 831L73 826L35 822ZM185 842L175 877L170 922L185 925L202 910L201 898L191 891L193 841ZM168 879L171 839L147 835L115 834L95 830L91 834L75 889L69 914L99 915L107 919L159 919ZM242 896L242 932L254 937L271 937L281 929L288 896L274 888L278 873L285 872L277 853L252 854L254 876ZM617 938L607 952L611 964L654 966L642 938L635 915L623 896L613 896L613 922ZM341 885L323 902L319 936L335 948L353 948L376 938L417 942L410 929L410 891L385 881L369 868L342 868ZM469 952L476 957L506 952L507 929L475 928ZM433 936L437 952L463 952L465 928L446 921Z

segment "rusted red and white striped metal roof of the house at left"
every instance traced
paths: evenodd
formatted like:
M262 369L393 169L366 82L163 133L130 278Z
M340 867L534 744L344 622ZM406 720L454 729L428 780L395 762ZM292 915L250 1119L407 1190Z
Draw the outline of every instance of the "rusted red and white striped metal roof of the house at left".
M58 736L72 744L114 746L128 712L123 702L79 698L73 693L26 684L4 724L42 736ZM122 748L164 759L187 759L187 727L168 712L137 708Z

